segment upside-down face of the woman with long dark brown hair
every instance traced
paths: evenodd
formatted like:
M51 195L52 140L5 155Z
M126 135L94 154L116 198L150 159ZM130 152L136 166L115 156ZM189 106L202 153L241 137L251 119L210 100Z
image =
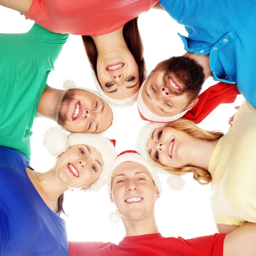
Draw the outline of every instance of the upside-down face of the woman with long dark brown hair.
M128 48L99 55L97 73L102 90L113 99L126 99L140 88L139 68Z

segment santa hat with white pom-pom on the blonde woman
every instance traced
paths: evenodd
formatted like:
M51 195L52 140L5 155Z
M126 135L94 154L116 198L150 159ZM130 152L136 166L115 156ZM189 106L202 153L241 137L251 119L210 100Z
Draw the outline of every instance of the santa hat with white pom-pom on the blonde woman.
M175 122L175 121L174 121ZM151 122L143 126L143 128L140 130L139 135L137 137L137 151L141 154L142 157L144 157L148 161L152 161L150 155L148 154L148 139L151 137L151 134L153 131L157 128L168 126L173 122L169 123L157 123L157 122ZM172 189L175 190L181 190L185 186L185 181L183 180L183 177L180 175L174 175L170 174L169 172L165 171L163 168L156 167L158 172L161 172L163 174L168 174L169 177L167 178L167 183Z

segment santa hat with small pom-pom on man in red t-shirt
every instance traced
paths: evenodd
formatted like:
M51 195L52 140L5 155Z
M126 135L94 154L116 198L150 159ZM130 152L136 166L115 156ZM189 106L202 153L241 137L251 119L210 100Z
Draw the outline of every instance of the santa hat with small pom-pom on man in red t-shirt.
M111 176L113 175L113 172L116 169L116 167L119 166L119 164L124 163L124 162L136 162L136 163L140 163L141 165L145 166L148 169L148 171L150 172L152 180L154 180L154 183L157 186L158 192L161 193L161 190L162 190L161 183L160 183L160 179L157 174L158 167L153 166L150 162L148 162L145 158L143 158L140 154L138 154L137 151L127 150L127 151L123 151L122 153L120 153L117 156L116 161L113 163L113 166L111 169ZM108 183L109 196L111 196L111 188L112 188L112 177L110 179L110 182ZM121 220L121 216L119 215L117 210L116 210L116 212L111 212L109 214L109 220L112 223L118 223Z

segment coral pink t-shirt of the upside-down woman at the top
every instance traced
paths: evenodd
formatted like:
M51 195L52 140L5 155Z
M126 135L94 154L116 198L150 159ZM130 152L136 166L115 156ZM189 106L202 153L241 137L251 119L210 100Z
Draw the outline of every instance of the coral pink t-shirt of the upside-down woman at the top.
M26 17L55 33L99 36L116 31L158 0L33 0Z

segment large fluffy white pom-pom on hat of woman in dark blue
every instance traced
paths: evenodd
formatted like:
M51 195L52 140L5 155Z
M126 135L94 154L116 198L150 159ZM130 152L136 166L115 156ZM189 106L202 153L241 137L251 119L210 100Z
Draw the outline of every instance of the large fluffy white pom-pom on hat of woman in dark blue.
M61 153L66 151L66 132L60 126L50 127L44 134L43 145L52 156L58 157Z

